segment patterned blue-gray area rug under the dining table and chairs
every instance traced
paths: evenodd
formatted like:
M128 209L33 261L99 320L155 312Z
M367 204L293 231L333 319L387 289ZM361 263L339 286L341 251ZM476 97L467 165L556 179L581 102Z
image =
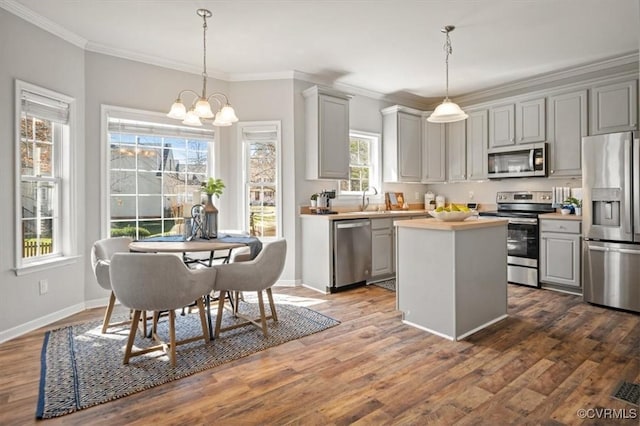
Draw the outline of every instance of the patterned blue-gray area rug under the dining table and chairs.
M243 312L259 317L257 303L240 303ZM268 314L268 305L266 309ZM175 368L161 351L134 357L129 365L123 365L129 330L126 326L110 328L107 334L101 334L102 323L92 321L48 331L42 347L36 417L59 417L122 398L340 323L308 308L279 304L277 299L276 311L279 321L268 322L268 337L264 337L257 327L247 326L221 333L220 338L208 344L199 340L180 345ZM215 315L213 321L215 324ZM223 325L231 325L234 321L237 320L225 312ZM196 336L200 331L195 311L176 316L176 339ZM168 340L166 319L161 320L158 332ZM136 347L151 344L151 339L138 333Z

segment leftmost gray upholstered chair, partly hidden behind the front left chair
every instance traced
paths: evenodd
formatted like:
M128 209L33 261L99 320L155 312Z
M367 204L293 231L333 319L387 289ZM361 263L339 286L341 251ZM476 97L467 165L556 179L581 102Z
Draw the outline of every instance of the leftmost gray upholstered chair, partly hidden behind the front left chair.
M129 322L109 323L111 321L113 307L116 304L116 296L111 289L111 279L109 278L109 265L115 253L127 253L129 251L129 243L131 243L131 241L132 239L129 237L105 238L104 240L98 240L93 243L93 247L91 248L91 266L96 280L100 287L110 291L109 304L107 305L104 320L102 321L103 334L106 333L107 329L111 326L123 325Z

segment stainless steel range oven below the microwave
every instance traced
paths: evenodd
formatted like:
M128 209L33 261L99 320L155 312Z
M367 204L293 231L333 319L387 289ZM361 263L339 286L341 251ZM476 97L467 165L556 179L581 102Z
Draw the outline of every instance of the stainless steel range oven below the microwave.
M483 216L507 218L507 280L510 283L539 287L538 215L555 211L550 191L499 192L498 210Z

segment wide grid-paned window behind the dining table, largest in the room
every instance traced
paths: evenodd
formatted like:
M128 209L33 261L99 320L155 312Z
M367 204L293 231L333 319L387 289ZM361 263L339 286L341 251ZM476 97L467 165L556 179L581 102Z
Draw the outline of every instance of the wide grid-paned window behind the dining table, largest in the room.
M214 131L165 124L153 113L109 111L108 235L182 235L212 175Z

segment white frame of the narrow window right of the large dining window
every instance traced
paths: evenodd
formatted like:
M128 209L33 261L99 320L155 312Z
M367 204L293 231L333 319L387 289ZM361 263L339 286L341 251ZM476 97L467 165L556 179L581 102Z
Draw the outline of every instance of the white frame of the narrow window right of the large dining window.
M278 238L282 238L282 124L280 120L272 120L272 121L241 121L237 123L237 138L241 145L242 150L242 170L240 176L240 183L242 185L242 196L238 203L240 204L240 211L242 212L242 231L250 232L250 215L248 211L248 205L245 203L245 200L248 200L249 197L249 183L247 181L247 173L249 169L249 158L247 155L248 143L255 142L245 140L244 133L245 129L255 128L256 131L263 130L269 127L275 127L276 138L275 138L275 147L276 147L276 235L273 237L264 237L259 236L258 238L261 241L271 241L276 240Z

